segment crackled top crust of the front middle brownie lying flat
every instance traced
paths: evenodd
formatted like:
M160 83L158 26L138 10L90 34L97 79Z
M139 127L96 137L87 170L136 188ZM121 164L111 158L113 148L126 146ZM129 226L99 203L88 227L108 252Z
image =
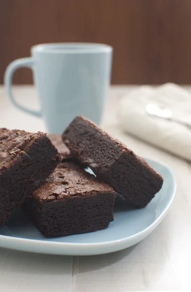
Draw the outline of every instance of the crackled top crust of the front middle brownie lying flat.
M71 196L94 197L97 193L112 193L115 196L113 188L108 184L97 180L80 166L65 162L58 164L53 174L32 196L39 201L55 201Z

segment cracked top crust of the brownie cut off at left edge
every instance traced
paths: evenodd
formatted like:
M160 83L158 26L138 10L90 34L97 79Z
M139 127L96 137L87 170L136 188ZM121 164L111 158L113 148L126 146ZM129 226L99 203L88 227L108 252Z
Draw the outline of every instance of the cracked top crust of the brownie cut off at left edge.
M50 143L49 138L42 132L29 133L23 130L0 128L0 172L12 167L19 156L27 154L30 147L39 139L47 139L47 143ZM55 159L60 160L59 154Z

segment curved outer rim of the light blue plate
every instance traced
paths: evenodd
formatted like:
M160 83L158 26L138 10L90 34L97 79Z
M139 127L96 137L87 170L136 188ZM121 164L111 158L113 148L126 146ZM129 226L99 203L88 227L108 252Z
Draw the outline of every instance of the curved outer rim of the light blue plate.
M31 239L31 238L22 238L22 237L12 237L12 236L7 236L7 235L0 235L0 247L9 248L9 249L13 249L13 250L19 250L19 251L27 251L27 252L43 253L43 254L55 254L55 255L56 254L57 255L98 255L98 254L110 253L110 252L114 252L114 251L118 251L118 250L126 248L126 247L123 247L123 248L119 247L119 248L114 248L112 251L109 251L109 247L112 247L113 245L115 245L115 243L116 243L116 246L118 246L117 245L118 243L123 245L126 241L134 240L135 243L141 241L142 239L147 237L155 229L155 227L157 227L157 225L162 221L162 219L164 219L165 215L169 211L169 208L172 204L172 201L175 197L175 192L176 192L176 179L175 179L175 176L174 176L171 168L167 164L159 162L155 159L152 159L149 157L144 157L144 159L149 163L154 162L154 163L160 164L162 167L167 168L171 174L171 179L172 179L172 194L171 194L171 199L168 202L168 205L165 207L163 212L158 216L158 218L156 220L154 220L153 223L151 225L149 225L148 227L146 227L145 229L143 229L140 232L135 233L134 235L131 235L129 237L124 237L121 239L115 239L115 240L104 241L104 242L96 242L96 243L46 241L46 240L41 240L41 239ZM140 239L140 238L142 238L142 239ZM26 244L26 246L23 246L23 248L22 248L23 244L24 245ZM31 244L33 245L34 251L32 251L32 249L30 248ZM131 245L134 245L134 244L131 244ZM131 245L129 245L129 246L131 246ZM91 252L91 249L93 247L99 248L99 247L106 247L106 246L108 247L108 252L104 252L104 251L102 252L101 250L99 251L99 253L96 253L96 252L92 253ZM127 247L129 247L129 246L127 246ZM48 247L49 251L46 250L47 247ZM57 247L59 247L59 248L62 247L63 252L61 252L60 249L55 251L55 249ZM74 250L76 247L78 248L77 253L75 253L75 250ZM38 251L35 251L36 248L38 249ZM84 250L84 248L85 248L85 250ZM54 251L50 252L51 249L53 249ZM65 249L71 250L71 253L66 252ZM80 249L80 252L79 252L79 249ZM84 252L83 252L83 250L84 250Z

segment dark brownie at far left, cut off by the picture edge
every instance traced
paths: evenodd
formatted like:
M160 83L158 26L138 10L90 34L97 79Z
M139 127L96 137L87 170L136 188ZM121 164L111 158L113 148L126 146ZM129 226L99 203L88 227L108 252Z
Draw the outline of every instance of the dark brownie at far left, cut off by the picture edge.
M59 161L60 155L46 134L0 128L0 226Z

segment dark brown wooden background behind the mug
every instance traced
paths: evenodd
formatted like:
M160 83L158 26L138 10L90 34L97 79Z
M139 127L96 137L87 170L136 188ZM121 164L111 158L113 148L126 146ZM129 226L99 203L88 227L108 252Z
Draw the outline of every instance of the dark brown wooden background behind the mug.
M191 0L0 0L0 83L32 45L75 41L114 47L114 84L191 84Z

